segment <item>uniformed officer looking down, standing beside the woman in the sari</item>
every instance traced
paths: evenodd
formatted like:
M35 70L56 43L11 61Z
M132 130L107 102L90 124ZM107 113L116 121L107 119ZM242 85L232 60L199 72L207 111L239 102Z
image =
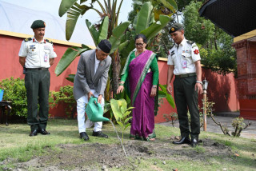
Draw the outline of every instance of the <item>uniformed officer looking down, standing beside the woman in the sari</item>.
M198 111L198 93L202 93L202 69L198 46L184 37L182 24L175 23L170 27L170 36L174 46L170 48L167 65L167 91L172 93L170 82L174 79L174 99L177 107L181 139L175 145L198 145L200 119ZM188 120L190 111L191 123ZM191 137L191 140L190 140Z

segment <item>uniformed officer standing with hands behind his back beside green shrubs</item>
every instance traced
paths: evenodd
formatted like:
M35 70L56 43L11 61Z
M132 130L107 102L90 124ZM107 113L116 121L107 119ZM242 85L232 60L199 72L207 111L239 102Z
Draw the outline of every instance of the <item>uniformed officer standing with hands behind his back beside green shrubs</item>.
M27 97L27 123L30 125L30 137L38 133L50 134L46 131L49 111L49 68L54 64L57 54L53 43L44 39L46 23L36 20L32 23L33 38L22 41L19 50L19 63L24 67L26 97ZM39 104L39 111L38 111Z

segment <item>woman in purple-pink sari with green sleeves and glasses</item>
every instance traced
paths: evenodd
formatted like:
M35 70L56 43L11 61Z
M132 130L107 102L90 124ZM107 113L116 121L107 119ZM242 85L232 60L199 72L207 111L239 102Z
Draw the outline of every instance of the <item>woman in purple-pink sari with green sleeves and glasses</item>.
M122 93L125 82L130 92L133 118L130 127L130 138L154 141L154 110L158 85L158 61L156 54L146 50L146 36L135 37L136 50L131 51L122 71L121 82L117 93ZM156 101L157 102L157 101Z

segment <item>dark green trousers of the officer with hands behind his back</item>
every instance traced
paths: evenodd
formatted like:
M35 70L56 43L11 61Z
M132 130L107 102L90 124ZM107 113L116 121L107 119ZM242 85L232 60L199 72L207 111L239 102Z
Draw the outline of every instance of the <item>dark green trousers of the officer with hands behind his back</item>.
M31 131L46 129L49 113L49 70L26 70L27 123ZM39 104L39 112L38 112Z

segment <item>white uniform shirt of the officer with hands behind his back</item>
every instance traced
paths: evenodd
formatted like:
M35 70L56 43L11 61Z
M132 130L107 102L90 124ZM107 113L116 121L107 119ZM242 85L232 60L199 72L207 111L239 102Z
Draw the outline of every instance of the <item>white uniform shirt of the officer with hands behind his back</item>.
M46 39L38 42L35 38L27 38L22 41L18 56L26 58L26 68L50 68L49 58L56 58L57 54L53 44Z

